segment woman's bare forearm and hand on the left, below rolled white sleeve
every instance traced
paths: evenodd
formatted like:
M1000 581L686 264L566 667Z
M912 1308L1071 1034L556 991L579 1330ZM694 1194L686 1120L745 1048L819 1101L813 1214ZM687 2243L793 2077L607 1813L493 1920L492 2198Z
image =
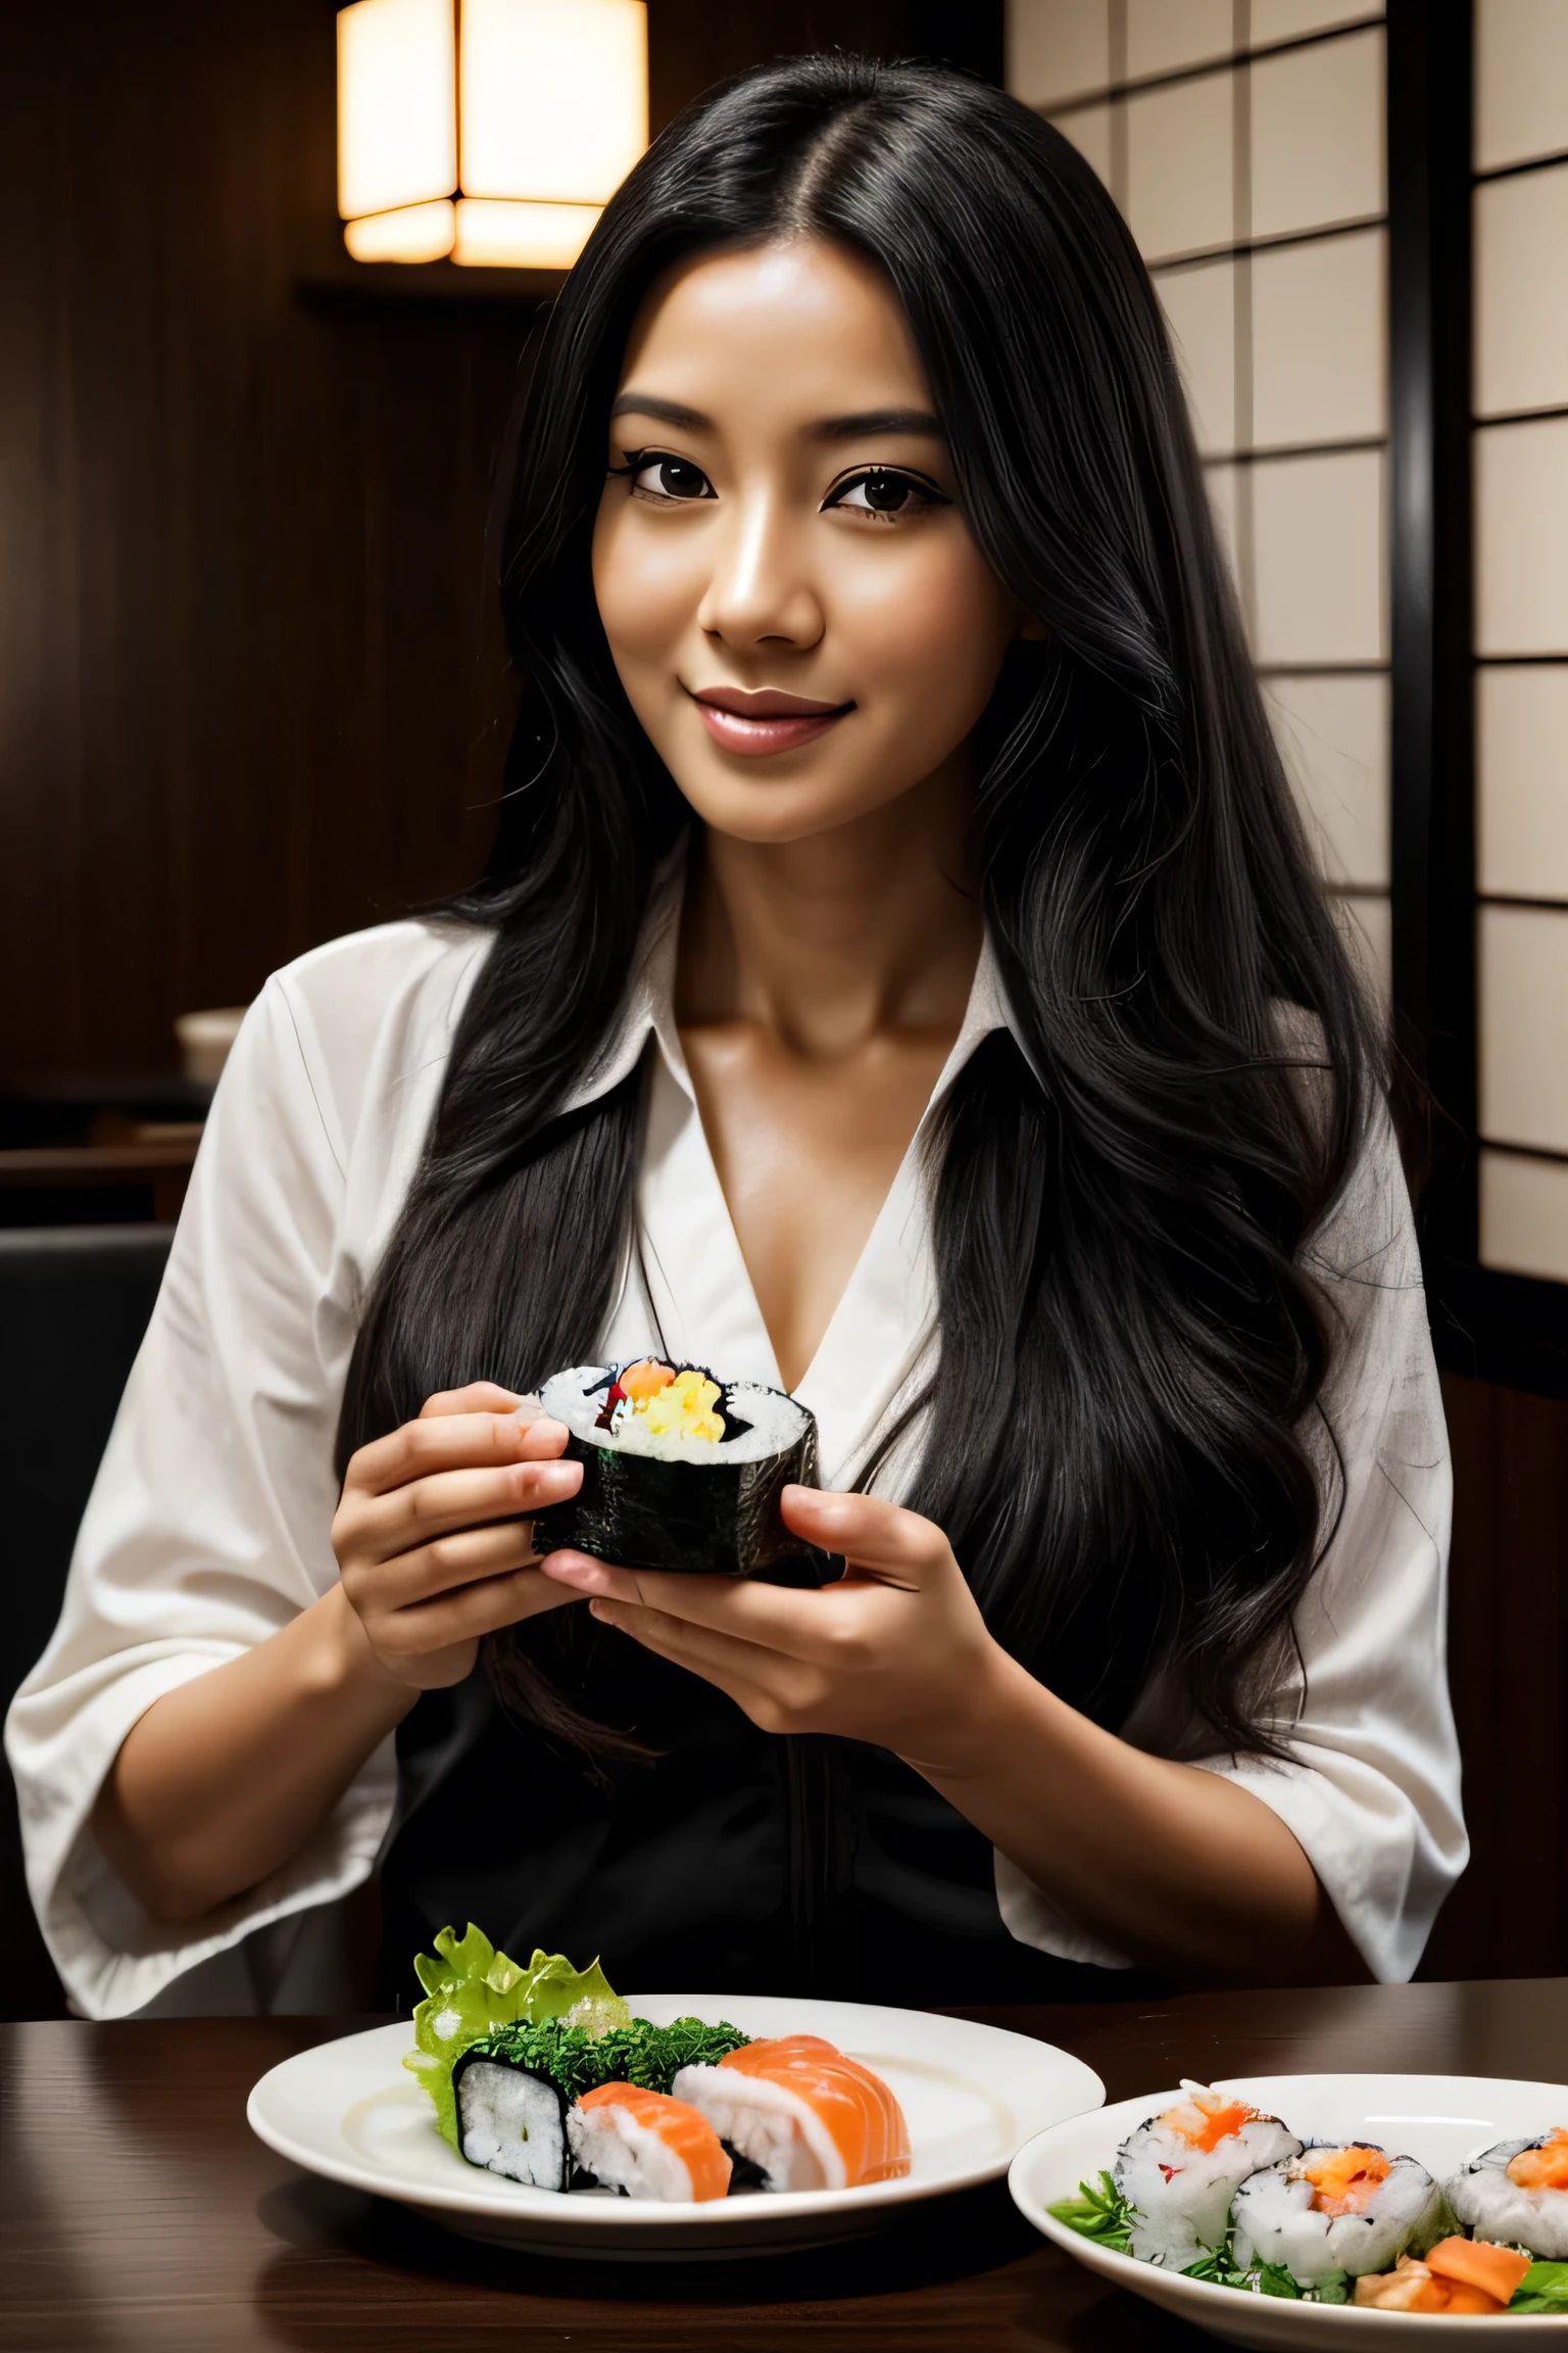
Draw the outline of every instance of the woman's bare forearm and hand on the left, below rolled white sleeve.
M480 1384L362 1447L331 1527L341 1584L132 1725L92 1828L160 1920L197 1920L277 1871L421 1689L480 1638L576 1595L534 1567L527 1513L576 1494L557 1421Z

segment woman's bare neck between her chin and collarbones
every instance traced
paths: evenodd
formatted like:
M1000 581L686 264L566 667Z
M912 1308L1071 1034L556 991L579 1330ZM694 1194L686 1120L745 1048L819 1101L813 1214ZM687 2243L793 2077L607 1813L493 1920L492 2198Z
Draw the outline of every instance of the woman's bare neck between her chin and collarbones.
M959 758L802 842L703 833L682 918L677 1019L750 1021L813 1059L877 1031L957 1033L980 955Z

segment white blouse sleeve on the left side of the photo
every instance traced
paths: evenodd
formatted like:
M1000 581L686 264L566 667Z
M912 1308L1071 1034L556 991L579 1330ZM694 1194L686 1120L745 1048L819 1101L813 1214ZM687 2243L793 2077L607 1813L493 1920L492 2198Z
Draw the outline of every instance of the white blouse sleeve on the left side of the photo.
M143 1911L89 1828L136 1718L336 1581L331 1433L355 1308L334 1271L343 1191L320 1042L306 1000L273 979L214 1096L61 1621L7 1722L33 1906L94 2019L143 2009L223 1953L235 1965L219 2007L275 2007L256 1953L273 1993L299 1979L301 1934L320 1927L303 1915L369 1878L390 1819L386 1741L284 1868L195 1925Z

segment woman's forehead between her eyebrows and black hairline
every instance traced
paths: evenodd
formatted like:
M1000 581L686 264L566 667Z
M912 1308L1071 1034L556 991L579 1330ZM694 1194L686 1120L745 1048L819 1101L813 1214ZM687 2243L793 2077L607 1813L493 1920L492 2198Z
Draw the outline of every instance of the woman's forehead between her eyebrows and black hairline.
M646 296L621 388L703 409L745 405L802 421L872 407L926 407L926 376L891 285L820 238L708 254Z

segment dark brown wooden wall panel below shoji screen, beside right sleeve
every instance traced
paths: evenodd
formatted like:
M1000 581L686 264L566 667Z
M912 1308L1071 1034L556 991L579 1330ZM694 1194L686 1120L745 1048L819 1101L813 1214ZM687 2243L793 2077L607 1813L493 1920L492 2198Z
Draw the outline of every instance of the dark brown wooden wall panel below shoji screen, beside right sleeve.
M1472 1861L1422 1977L1568 1972L1568 1402L1443 1374Z

